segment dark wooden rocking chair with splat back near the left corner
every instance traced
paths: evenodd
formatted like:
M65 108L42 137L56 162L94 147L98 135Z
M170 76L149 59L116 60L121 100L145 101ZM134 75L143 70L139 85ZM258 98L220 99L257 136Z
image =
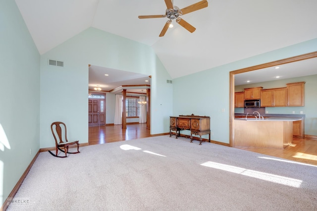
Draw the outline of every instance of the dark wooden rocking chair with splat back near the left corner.
M64 127L64 131L62 131L62 128L60 127L60 125L63 125ZM51 124L51 130L55 139L55 149L56 149L56 155L54 155L51 151L49 151L49 153L51 153L54 157L58 157L58 158L66 158L67 157L67 153L68 154L76 154L76 153L80 153L79 152L79 141L72 141L69 142L67 140L67 131L66 131L66 125L63 122L53 122ZM62 140L62 133L65 133L65 140ZM57 137L59 140L57 140ZM75 153L69 153L68 152L68 146L70 145L75 145L77 144L77 152ZM60 147L63 147L64 150L60 149ZM58 154L58 150L60 150L61 152L65 153L65 156L57 156Z

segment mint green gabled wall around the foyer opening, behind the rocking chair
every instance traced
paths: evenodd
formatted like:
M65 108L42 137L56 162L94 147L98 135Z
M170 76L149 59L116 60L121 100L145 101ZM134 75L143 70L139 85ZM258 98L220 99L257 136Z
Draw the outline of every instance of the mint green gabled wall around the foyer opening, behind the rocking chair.
M63 61L64 67L49 66L48 59ZM54 146L53 121L65 122L69 140L88 142L88 64L152 75L151 134L168 132L171 77L153 49L89 28L41 55L41 148Z

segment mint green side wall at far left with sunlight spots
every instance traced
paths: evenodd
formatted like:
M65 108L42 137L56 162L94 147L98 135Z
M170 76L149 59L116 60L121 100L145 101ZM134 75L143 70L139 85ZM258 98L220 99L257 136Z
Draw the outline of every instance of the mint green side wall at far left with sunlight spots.
M39 89L40 54L15 1L1 0L0 125L10 145L0 150L1 205L40 149Z

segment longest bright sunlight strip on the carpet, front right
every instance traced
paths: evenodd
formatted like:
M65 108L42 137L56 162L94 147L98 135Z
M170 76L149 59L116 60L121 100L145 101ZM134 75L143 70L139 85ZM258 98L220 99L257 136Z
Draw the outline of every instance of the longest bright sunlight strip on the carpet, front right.
M249 176L249 177L253 177L253 178L257 178L257 179L262 179L262 180L269 181L269 182L287 185L287 186L291 186L291 187L295 187L295 188L299 188L303 182L302 180L299 180L299 179L293 179L293 178L279 176L279 175L275 175L275 174L269 174L269 173L265 173L265 172L261 172L261 171L254 171L251 169L240 168L237 166L226 165L226 164L212 162L212 161L204 162L201 165L211 167L211 168L220 169L220 170L225 170L225 171L229 171L232 173L237 173L237 174L241 174L244 176Z

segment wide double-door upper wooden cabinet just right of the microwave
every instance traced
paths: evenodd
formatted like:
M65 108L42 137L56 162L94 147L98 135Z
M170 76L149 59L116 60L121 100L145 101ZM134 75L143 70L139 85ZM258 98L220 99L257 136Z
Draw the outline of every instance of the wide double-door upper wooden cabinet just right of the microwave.
M261 90L261 107L287 106L287 88Z

